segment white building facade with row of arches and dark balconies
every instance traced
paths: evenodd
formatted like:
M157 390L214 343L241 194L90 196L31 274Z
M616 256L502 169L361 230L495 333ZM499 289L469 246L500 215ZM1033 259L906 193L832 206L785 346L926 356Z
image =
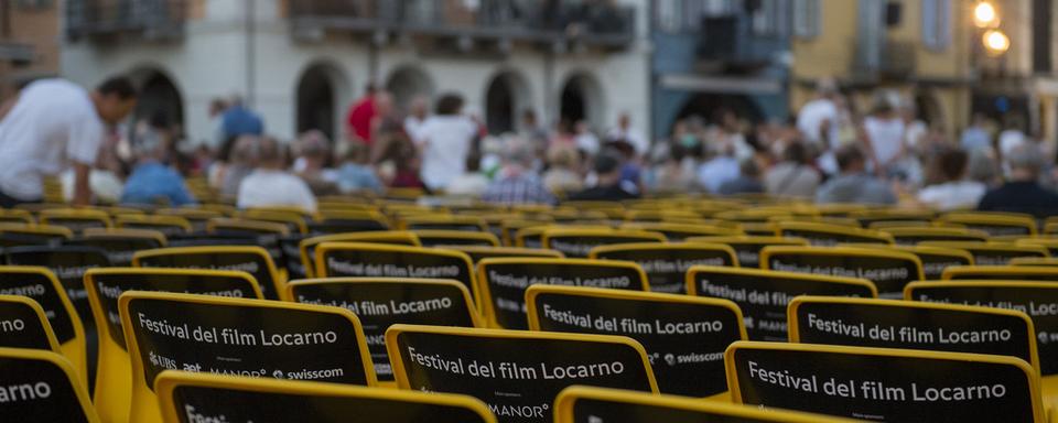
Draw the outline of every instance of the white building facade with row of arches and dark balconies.
M586 11L536 0L68 0L62 73L90 86L127 73L137 115L164 112L193 141L213 135L208 104L239 95L266 131L344 134L375 83L398 107L461 94L493 132L627 112L649 128L647 0ZM609 4L602 2L600 4Z

